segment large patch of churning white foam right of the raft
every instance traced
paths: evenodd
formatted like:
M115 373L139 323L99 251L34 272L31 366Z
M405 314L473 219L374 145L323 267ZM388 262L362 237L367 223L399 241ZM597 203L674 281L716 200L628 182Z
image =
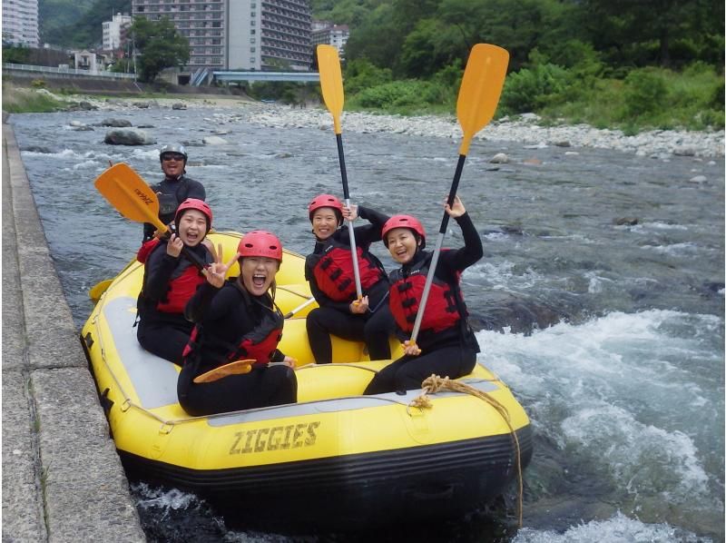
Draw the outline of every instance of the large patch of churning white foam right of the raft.
M714 315L651 310L476 337L479 360L520 397L551 454L598 481L596 499L649 521L671 520L679 504L672 523L690 526L723 509L722 328ZM528 473L537 469L535 458ZM535 477L546 492L561 474Z

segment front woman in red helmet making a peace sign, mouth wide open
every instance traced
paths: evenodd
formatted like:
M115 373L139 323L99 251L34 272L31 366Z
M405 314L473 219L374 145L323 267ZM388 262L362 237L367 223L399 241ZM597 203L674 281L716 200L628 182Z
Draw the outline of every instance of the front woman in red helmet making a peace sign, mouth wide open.
M196 326L184 350L177 394L182 408L195 417L297 400L295 360L277 348L284 322L274 302L280 240L270 232L248 232L236 260L240 276L225 280L234 261L221 263L220 251L184 311ZM235 360L249 360L243 364L248 372L222 372ZM211 370L220 375L195 382Z

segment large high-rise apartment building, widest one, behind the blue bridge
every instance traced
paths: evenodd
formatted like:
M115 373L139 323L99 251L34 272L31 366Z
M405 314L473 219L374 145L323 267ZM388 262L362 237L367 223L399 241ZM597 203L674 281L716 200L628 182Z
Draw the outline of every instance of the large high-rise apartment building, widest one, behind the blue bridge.
M307 71L312 63L309 0L132 0L132 15L172 20L189 40L188 74Z

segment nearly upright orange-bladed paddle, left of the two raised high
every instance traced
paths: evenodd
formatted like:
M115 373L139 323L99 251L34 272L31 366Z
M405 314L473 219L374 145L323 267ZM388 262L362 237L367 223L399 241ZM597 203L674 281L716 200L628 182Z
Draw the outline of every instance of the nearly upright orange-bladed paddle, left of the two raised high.
M350 194L348 193L348 174L346 173L346 159L343 154L343 137L340 129L340 114L343 112L343 76L340 74L340 59L338 49L332 45L318 45L318 70L320 74L320 89L323 101L331 115L333 115L333 130L338 143L338 162L340 163L340 177L343 181L343 197L346 207L350 207ZM353 222L348 221L350 234L350 252L353 257L353 275L356 280L356 294L358 300L363 298L360 287L360 271L358 269L358 252L356 250L356 235L353 232Z

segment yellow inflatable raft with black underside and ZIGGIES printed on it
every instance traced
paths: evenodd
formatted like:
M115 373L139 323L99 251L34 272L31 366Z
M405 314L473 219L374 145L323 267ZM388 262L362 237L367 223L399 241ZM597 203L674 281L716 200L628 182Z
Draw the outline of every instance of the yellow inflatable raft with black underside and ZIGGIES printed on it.
M225 262L240 240L210 237ZM285 252L283 313L309 300L303 269L303 257ZM472 393L429 394L430 408L415 407L422 390L362 396L388 361L367 360L358 343L334 342L344 363L313 364L305 315L314 303L285 321L280 344L299 361L298 403L189 417L177 401L179 368L136 341L142 273L134 261L111 282L82 342L124 466L144 479L241 507L253 524L349 529L463 515L500 494L532 456L525 411L480 364L456 381Z

